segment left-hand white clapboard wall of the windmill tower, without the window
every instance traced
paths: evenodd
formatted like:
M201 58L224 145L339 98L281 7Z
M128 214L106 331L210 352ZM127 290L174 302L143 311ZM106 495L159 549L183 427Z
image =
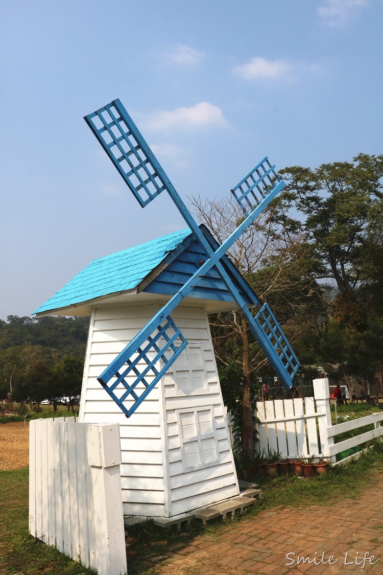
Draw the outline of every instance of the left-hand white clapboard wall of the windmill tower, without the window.
M96 378L148 323L157 309L158 305L97 308L91 317L80 420L87 423L113 420L120 425L125 515L136 515L138 507L138 515L161 516L164 513L161 386L156 386L134 415L127 419ZM134 381L133 376L129 379ZM143 384L137 386L138 389L143 387ZM126 401L127 404L129 402Z

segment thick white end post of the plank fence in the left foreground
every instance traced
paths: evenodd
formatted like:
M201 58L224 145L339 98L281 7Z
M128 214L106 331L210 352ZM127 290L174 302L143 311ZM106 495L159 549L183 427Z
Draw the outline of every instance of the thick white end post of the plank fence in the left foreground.
M123 575L127 568L118 424L89 425L87 443L92 473L97 570L99 575Z

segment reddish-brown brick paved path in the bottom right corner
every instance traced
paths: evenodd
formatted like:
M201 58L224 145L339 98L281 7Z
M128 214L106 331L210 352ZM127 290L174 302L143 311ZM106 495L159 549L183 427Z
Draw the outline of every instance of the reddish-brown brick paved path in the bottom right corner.
M332 561L338 561L324 564L322 553L323 561L330 555L334 556ZM375 556L372 561L380 561L372 565L367 559L357 565L355 558L361 562L365 553L369 558ZM298 565L298 557L316 558L319 564ZM267 509L230 524L218 534L194 539L155 571L161 575L383 574L383 472L376 474L374 486L357 500Z

